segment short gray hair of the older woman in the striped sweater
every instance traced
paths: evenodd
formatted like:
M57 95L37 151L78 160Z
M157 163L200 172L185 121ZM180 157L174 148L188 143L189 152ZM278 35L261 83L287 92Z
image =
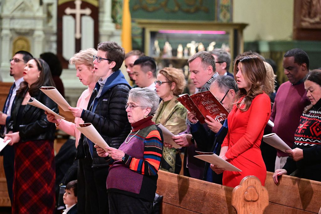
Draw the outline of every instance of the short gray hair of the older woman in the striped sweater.
M129 91L128 98L131 98L135 103L140 103L139 105L143 107L150 107L151 112L148 116L154 116L160 102L156 91L148 88L133 88Z

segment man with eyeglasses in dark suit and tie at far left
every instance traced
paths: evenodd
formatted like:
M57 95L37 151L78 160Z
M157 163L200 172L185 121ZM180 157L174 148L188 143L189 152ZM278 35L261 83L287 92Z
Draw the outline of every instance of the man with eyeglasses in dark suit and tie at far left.
M18 51L14 54L13 58L10 59L10 76L13 77L14 83L11 86L9 94L5 100L4 107L2 110L3 114L0 115L1 137L4 137L4 134L7 133L7 129L5 127L6 118L11 115L11 107L13 105L16 92L20 88L20 83L23 81L24 67L26 66L26 63L32 58L33 56L29 52ZM3 155L4 174L7 180L9 197L10 197L10 200L12 201L13 165L14 165L13 146L4 147L0 155Z

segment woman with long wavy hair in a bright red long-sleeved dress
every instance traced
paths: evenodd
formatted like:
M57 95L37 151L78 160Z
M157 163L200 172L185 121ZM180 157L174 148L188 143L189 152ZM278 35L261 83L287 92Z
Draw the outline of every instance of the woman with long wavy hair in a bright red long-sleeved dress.
M263 61L255 55L238 58L234 64L238 100L227 120L229 131L225 137L220 157L238 167L242 172L224 171L211 165L218 174L223 172L223 185L235 187L247 175L258 177L264 185L266 168L260 145L263 131L271 114L271 101Z

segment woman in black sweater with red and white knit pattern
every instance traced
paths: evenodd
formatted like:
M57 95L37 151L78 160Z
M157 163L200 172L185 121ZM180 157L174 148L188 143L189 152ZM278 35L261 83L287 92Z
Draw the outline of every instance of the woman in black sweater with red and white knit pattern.
M298 176L315 181L321 181L321 70L311 71L304 82L307 97L311 105L304 109L300 124L294 135L294 146L282 169L275 171L273 180L278 182L278 176L290 175L298 169Z

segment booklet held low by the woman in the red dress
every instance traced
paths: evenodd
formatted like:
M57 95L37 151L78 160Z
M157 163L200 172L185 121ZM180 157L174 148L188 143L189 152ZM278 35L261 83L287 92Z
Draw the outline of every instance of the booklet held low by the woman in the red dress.
M230 164L226 160L223 160L222 158L220 158L219 156L217 156L212 152L201 152L201 151L196 151L196 152L200 155L195 155L194 156L195 158L204 160L213 165L217 165L219 168L223 168L227 171L242 172L242 170L240 170L237 167L234 167L232 164Z

